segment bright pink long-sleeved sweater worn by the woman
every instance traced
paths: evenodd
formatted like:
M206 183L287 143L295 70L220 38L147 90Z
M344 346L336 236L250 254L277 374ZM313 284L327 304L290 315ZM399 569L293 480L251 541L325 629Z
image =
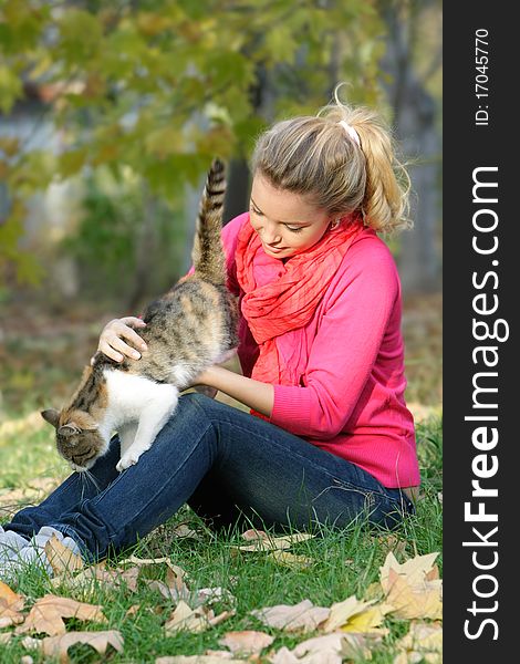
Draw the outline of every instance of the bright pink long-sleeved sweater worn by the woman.
M237 236L246 212L225 226L229 288L237 278ZM281 260L262 252L256 273L272 279ZM352 243L306 325L301 385L274 385L270 422L371 473L385 487L419 484L414 419L406 407L401 283L394 259L373 230ZM258 346L246 320L238 355L251 375Z

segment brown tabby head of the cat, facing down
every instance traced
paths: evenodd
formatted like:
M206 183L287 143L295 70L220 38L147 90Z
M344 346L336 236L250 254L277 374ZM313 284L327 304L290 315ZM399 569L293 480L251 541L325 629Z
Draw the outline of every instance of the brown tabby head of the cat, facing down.
M73 470L89 470L97 457L106 452L100 427L89 413L49 408L42 411L41 415L56 429L58 452Z

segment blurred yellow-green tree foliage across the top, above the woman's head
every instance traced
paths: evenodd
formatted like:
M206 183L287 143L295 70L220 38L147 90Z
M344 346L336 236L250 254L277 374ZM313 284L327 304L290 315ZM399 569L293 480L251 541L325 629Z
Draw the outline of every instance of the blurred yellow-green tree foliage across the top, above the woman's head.
M116 177L129 168L175 204L216 154L247 156L267 122L314 113L339 81L352 84L354 101L374 102L383 48L374 7L4 0L0 111L15 110L30 85L61 141L52 157L27 145L0 152L10 209L52 180L102 167ZM17 242L7 247L0 262L18 260Z

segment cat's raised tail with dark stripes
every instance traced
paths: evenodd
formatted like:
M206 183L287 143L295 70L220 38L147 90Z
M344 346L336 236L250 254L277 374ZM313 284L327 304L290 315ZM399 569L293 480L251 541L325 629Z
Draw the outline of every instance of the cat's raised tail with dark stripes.
M215 159L200 200L191 257L196 277L222 284L226 283L226 256L220 231L225 194L226 169L222 162Z

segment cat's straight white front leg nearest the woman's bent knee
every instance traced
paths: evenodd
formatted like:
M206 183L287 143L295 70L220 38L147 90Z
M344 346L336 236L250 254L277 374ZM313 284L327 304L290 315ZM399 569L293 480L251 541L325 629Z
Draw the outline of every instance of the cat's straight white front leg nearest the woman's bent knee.
M156 385L154 401L142 409L135 438L121 457L116 469L121 473L135 466L141 455L152 447L157 434L173 415L178 401L178 390L173 385Z

